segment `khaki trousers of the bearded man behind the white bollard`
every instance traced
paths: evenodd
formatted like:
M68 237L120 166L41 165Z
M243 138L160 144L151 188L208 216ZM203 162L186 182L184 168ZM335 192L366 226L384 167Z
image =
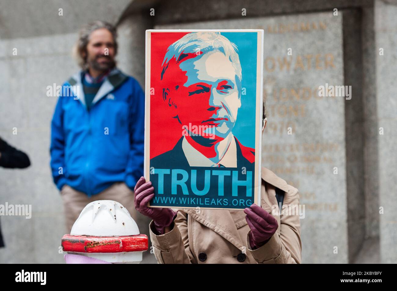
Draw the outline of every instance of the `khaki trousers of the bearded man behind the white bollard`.
M66 216L66 230L70 234L72 226L79 217L84 207L96 200L114 200L123 205L131 214L132 218L136 220L136 210L134 207L134 191L128 188L124 182L116 182L109 188L102 192L88 197L85 193L71 188L69 185L64 185L61 190L61 197L64 201L65 216Z

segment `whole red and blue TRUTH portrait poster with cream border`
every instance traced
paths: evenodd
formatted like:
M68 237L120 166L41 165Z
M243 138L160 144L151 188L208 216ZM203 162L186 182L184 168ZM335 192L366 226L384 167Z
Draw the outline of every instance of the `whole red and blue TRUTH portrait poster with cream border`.
M149 207L260 205L263 30L146 31Z

